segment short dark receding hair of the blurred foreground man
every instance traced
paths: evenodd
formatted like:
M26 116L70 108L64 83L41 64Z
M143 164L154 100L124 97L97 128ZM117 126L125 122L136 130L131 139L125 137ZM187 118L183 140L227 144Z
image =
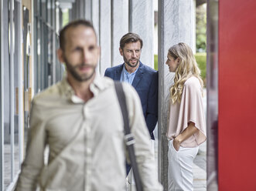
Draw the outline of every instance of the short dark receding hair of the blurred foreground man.
M75 20L73 22L68 23L66 26L64 26L60 30L60 49L62 49L62 50L65 49L65 42L66 42L65 34L67 32L67 29L77 27L78 25L84 25L85 27L89 27L89 28L92 28L94 30L94 25L92 25L91 22L89 22L87 20L79 19L79 20ZM94 30L94 33L96 35L95 30Z

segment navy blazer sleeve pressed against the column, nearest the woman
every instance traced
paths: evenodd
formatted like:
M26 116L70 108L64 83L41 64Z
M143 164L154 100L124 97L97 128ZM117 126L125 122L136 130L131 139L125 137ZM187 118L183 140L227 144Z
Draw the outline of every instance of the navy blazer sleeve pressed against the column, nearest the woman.
M149 86L147 111L145 121L148 126L150 136L154 138L153 131L158 120L158 92L159 92L159 72L155 72Z

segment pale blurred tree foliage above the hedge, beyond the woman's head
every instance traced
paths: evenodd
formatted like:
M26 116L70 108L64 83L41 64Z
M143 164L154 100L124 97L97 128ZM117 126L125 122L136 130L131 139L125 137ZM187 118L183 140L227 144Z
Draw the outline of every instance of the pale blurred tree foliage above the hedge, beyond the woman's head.
M196 52L207 49L207 7L206 4L196 7Z

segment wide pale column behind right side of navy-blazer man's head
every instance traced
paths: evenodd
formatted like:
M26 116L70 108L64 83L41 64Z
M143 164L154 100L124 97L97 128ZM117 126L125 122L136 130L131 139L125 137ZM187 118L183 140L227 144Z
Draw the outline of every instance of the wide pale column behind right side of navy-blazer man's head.
M153 1L129 0L129 32L141 36L143 40L141 61L152 68L154 67L153 30Z

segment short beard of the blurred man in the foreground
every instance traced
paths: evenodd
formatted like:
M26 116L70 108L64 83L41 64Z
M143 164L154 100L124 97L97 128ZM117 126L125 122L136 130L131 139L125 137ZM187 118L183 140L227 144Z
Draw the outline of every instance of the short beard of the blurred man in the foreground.
M67 71L70 72L70 74L73 76L73 78L77 79L78 82L86 82L94 76L96 66L90 65L90 64L85 64L84 62L79 65L73 66L73 65L70 65L70 62L68 62L66 58L64 58L64 61L67 66ZM76 71L76 69L79 67L84 67L84 66L92 68L93 72L91 72L91 74L80 75Z

